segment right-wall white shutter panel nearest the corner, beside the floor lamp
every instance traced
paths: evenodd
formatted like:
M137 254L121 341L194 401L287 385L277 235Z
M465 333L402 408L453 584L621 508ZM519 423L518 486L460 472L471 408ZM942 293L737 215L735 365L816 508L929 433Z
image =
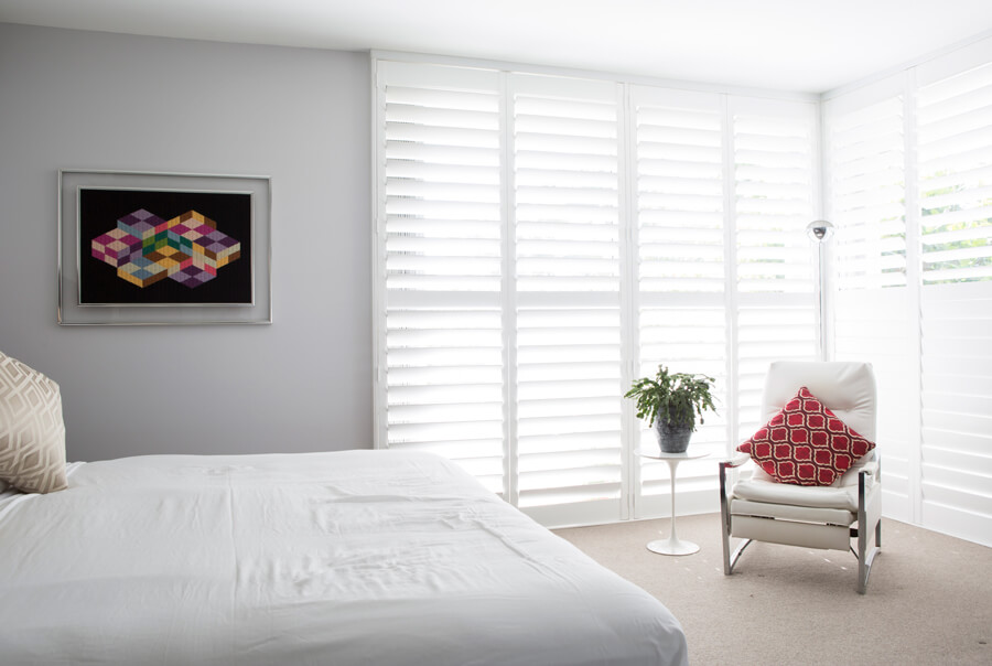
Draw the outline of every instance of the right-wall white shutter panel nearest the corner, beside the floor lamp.
M824 117L828 218L837 227L834 357L874 367L883 506L909 520L918 322L907 288L903 76L828 101Z

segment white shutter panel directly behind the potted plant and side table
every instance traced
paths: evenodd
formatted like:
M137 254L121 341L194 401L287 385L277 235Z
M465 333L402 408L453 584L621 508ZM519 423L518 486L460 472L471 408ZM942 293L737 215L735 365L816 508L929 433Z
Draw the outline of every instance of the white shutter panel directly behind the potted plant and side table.
M638 377L659 364L716 379L716 415L692 436L692 450L714 455L726 443L726 307L723 112L716 94L637 86L636 121ZM656 451L653 429L639 445ZM641 458L637 515L657 515L670 493L669 469ZM679 466L678 505L712 508L712 460ZM666 504L662 504L666 503Z

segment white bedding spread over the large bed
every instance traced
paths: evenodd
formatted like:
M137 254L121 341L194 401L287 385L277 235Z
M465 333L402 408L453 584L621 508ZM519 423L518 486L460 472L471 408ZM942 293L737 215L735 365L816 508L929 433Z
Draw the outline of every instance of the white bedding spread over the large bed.
M680 665L656 599L433 455L150 455L0 494L0 662Z

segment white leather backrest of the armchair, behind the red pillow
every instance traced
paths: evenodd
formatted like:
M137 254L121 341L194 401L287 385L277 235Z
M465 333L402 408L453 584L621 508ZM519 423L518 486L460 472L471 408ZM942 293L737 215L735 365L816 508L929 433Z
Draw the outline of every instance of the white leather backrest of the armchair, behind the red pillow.
M765 377L762 422L775 416L804 386L849 428L873 442L876 441L877 397L875 373L871 363L843 361L772 363Z

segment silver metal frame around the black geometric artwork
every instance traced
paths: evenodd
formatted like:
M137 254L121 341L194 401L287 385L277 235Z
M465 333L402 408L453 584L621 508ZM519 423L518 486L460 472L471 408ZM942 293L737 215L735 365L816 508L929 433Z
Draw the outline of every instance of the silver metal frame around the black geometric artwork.
M129 191L163 195L235 195L250 210L248 256L237 259L245 296L233 302L103 302L84 300L84 261L93 261L82 230L83 193ZM90 195L91 196L91 195ZM149 171L58 170L57 322L60 325L209 325L272 323L272 179ZM209 221L208 221L209 222ZM111 221L111 228L116 221ZM139 241L140 244L140 241ZM138 247L140 250L141 248ZM94 250L96 251L96 250ZM109 250L108 250L109 251ZM165 251L165 250L163 250ZM172 251L172 250L169 250ZM139 253L140 254L140 253ZM240 264L247 261L246 264ZM106 267L109 268L109 267ZM250 276L250 277L248 277Z

